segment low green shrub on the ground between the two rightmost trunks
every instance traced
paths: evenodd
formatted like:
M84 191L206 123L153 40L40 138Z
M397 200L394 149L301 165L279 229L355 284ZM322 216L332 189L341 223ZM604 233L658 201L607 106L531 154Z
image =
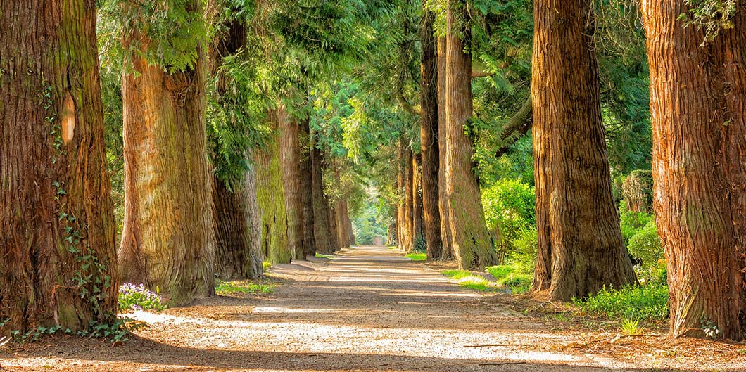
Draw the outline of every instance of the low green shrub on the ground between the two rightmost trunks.
M626 286L601 289L586 300L574 300L586 312L609 318L662 320L668 318L668 287L657 283L648 286Z

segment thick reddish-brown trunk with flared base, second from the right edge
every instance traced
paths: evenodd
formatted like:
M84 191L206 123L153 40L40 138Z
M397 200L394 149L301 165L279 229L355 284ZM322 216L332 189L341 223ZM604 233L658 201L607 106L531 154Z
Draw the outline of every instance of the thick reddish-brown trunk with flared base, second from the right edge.
M591 1L536 0L534 22L532 290L571 300L636 279L612 200Z

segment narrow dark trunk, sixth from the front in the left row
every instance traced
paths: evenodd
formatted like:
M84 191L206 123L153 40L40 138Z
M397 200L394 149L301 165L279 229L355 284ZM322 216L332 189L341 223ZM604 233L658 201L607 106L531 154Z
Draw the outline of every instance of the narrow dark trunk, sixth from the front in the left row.
M303 249L305 255L316 255L316 239L313 236L313 182L311 174L311 142L309 120L301 122L301 205L303 208Z

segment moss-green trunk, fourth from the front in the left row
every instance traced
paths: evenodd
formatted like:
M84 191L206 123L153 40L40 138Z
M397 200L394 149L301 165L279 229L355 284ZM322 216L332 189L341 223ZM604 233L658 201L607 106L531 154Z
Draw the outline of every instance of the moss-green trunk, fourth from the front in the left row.
M269 113L272 139L266 147L255 151L257 169L257 201L262 212L262 249L269 262L288 263L292 250L288 246L285 188L283 186L280 148L278 146L278 116Z

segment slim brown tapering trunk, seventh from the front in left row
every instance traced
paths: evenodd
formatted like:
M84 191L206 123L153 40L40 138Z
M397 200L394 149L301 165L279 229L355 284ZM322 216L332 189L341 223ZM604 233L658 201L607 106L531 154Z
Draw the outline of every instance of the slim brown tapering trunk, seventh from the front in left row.
M329 221L329 204L324 195L322 171L322 152L313 146L311 152L311 176L313 182L313 236L316 239L316 250L321 253L332 253L334 246L331 240Z

